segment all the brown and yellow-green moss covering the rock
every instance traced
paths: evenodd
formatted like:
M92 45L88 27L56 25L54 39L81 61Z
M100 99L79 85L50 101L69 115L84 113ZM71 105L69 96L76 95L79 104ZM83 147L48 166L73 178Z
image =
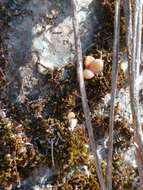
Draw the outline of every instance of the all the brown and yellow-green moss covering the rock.
M94 114L95 111L98 113L100 104L104 105L105 95L111 92L114 1L106 2L103 6L104 26L95 34L94 46L87 52L95 58L99 58L99 50L102 52L105 62L103 74L85 81L94 133L98 139L104 138L109 128L107 115ZM107 15L109 20L106 19ZM3 25L10 17L7 15L4 18ZM124 35L124 19L122 20L121 33ZM0 53L5 55L2 40L0 44ZM1 88L6 84L6 64L8 63L5 56L1 56ZM120 69L118 89L124 86L124 81L125 76ZM53 91L48 98L27 100L24 105L11 102L5 105L6 117L0 118L0 189L7 189L11 184L15 188L23 179L32 175L35 168L48 166L56 170L54 190L98 190L100 188L96 169L87 146L89 139L84 127L75 64L61 69L55 68L54 71L49 70L46 82ZM69 111L73 111L78 120L74 131L69 129ZM106 110L108 111L109 109ZM118 117L115 121L113 155L113 188L116 190L131 189L137 176L135 169L127 165L122 156L131 142L132 132L128 121ZM88 175L83 169L84 166L88 169ZM104 175L105 167L106 162L103 161Z

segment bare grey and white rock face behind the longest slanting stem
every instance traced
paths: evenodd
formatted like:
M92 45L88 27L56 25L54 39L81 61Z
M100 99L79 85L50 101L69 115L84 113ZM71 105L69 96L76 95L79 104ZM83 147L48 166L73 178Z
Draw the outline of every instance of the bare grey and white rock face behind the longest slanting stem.
M13 12L5 34L8 80L15 78L8 94L16 101L43 95L47 68L62 67L74 58L70 0L7 1ZM98 19L95 0L77 0L82 48L90 44ZM41 90L42 88L42 90Z

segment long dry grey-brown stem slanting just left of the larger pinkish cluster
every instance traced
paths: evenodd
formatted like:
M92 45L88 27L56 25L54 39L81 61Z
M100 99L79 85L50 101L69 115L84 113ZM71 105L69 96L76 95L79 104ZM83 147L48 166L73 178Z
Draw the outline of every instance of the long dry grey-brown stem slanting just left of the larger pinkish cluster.
M72 6L72 17L73 17L72 21L73 21L76 61L77 61L77 75L78 75L78 81L79 81L79 86L80 86L82 107L83 107L83 111L84 111L84 115L85 115L85 122L86 122L89 141L90 141L90 145L91 145L91 151L94 156L97 176L99 179L101 190L106 190L105 181L104 181L102 170L101 170L101 164L100 164L100 161L99 161L99 158L97 155L97 143L95 141L95 137L93 134L93 128L92 128L91 117L90 117L90 109L88 106L88 100L87 100L84 78L83 78L82 49L81 49L79 24L78 24L78 19L77 19L77 7L76 7L75 0L71 0L71 6Z

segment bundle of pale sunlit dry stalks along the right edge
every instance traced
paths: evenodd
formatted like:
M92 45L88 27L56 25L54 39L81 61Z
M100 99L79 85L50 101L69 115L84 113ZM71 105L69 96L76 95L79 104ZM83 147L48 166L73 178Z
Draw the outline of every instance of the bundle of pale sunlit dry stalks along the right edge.
M143 187L143 132L139 112L139 67L141 63L141 36L142 36L142 3L135 2L134 16L132 17L131 2L124 1L126 21L126 46L128 57L128 78L130 86L130 100L135 128L136 158L140 176L140 187ZM132 31L132 26L134 27Z

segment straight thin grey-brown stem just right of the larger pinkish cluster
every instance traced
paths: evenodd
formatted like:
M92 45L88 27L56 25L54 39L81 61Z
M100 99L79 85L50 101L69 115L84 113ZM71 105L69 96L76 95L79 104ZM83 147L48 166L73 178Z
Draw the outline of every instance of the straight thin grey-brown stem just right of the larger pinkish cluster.
M113 129L114 129L114 111L115 111L115 97L117 88L118 75L118 55L119 55L119 36L120 36L120 0L116 0L115 8L115 32L114 32L114 46L113 46L113 63L112 63L112 90L111 90L111 108L109 121L109 144L108 144L108 158L107 158L107 188L112 190L112 154L113 154Z

